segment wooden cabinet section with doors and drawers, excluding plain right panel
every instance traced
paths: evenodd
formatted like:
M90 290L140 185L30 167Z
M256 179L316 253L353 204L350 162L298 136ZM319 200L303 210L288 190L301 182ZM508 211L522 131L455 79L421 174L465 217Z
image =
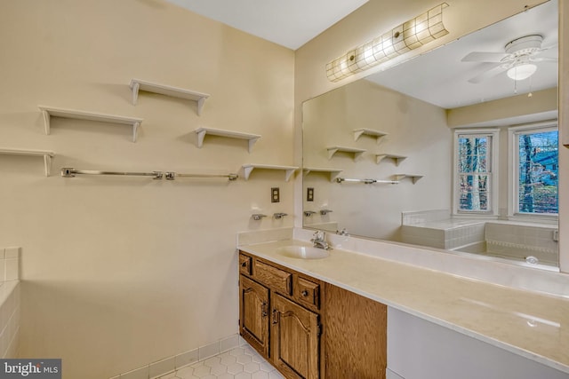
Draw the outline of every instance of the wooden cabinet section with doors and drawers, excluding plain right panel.
M320 379L319 280L239 254L239 333L286 378Z

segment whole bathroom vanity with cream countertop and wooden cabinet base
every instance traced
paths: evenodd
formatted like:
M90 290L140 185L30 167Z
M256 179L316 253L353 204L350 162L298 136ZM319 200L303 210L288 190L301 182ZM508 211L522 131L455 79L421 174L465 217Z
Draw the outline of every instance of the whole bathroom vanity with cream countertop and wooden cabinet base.
M563 296L341 247L283 254L291 246L311 248L238 248L240 334L287 378L569 378Z

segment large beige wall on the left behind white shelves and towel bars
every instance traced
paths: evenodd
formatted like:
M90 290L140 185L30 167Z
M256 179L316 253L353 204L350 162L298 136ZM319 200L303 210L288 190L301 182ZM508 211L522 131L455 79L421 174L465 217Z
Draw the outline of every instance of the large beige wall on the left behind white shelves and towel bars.
M21 357L62 358L64 378L100 379L237 332L235 234L293 225L252 209L293 213L283 172L174 182L60 178L78 170L226 172L293 163L293 51L162 0L19 0L0 11L0 245L22 247ZM133 77L211 94L201 117L187 100L143 94ZM127 126L52 120L37 106L141 117ZM207 138L207 126L262 135ZM281 202L270 203L270 187Z

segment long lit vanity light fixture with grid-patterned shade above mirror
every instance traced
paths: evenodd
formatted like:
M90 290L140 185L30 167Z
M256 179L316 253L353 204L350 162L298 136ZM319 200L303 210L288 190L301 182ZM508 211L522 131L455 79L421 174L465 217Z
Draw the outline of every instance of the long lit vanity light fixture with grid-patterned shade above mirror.
M443 25L443 9L446 3L438 4L429 11L408 20L397 28L361 44L326 65L326 76L338 82L350 75L377 66L425 43L447 35Z

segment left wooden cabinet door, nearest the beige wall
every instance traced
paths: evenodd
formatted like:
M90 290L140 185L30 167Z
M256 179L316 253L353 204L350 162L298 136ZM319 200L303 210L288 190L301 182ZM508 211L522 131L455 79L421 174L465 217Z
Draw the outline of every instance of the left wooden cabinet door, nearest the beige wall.
M239 332L261 355L268 357L268 289L241 275Z

